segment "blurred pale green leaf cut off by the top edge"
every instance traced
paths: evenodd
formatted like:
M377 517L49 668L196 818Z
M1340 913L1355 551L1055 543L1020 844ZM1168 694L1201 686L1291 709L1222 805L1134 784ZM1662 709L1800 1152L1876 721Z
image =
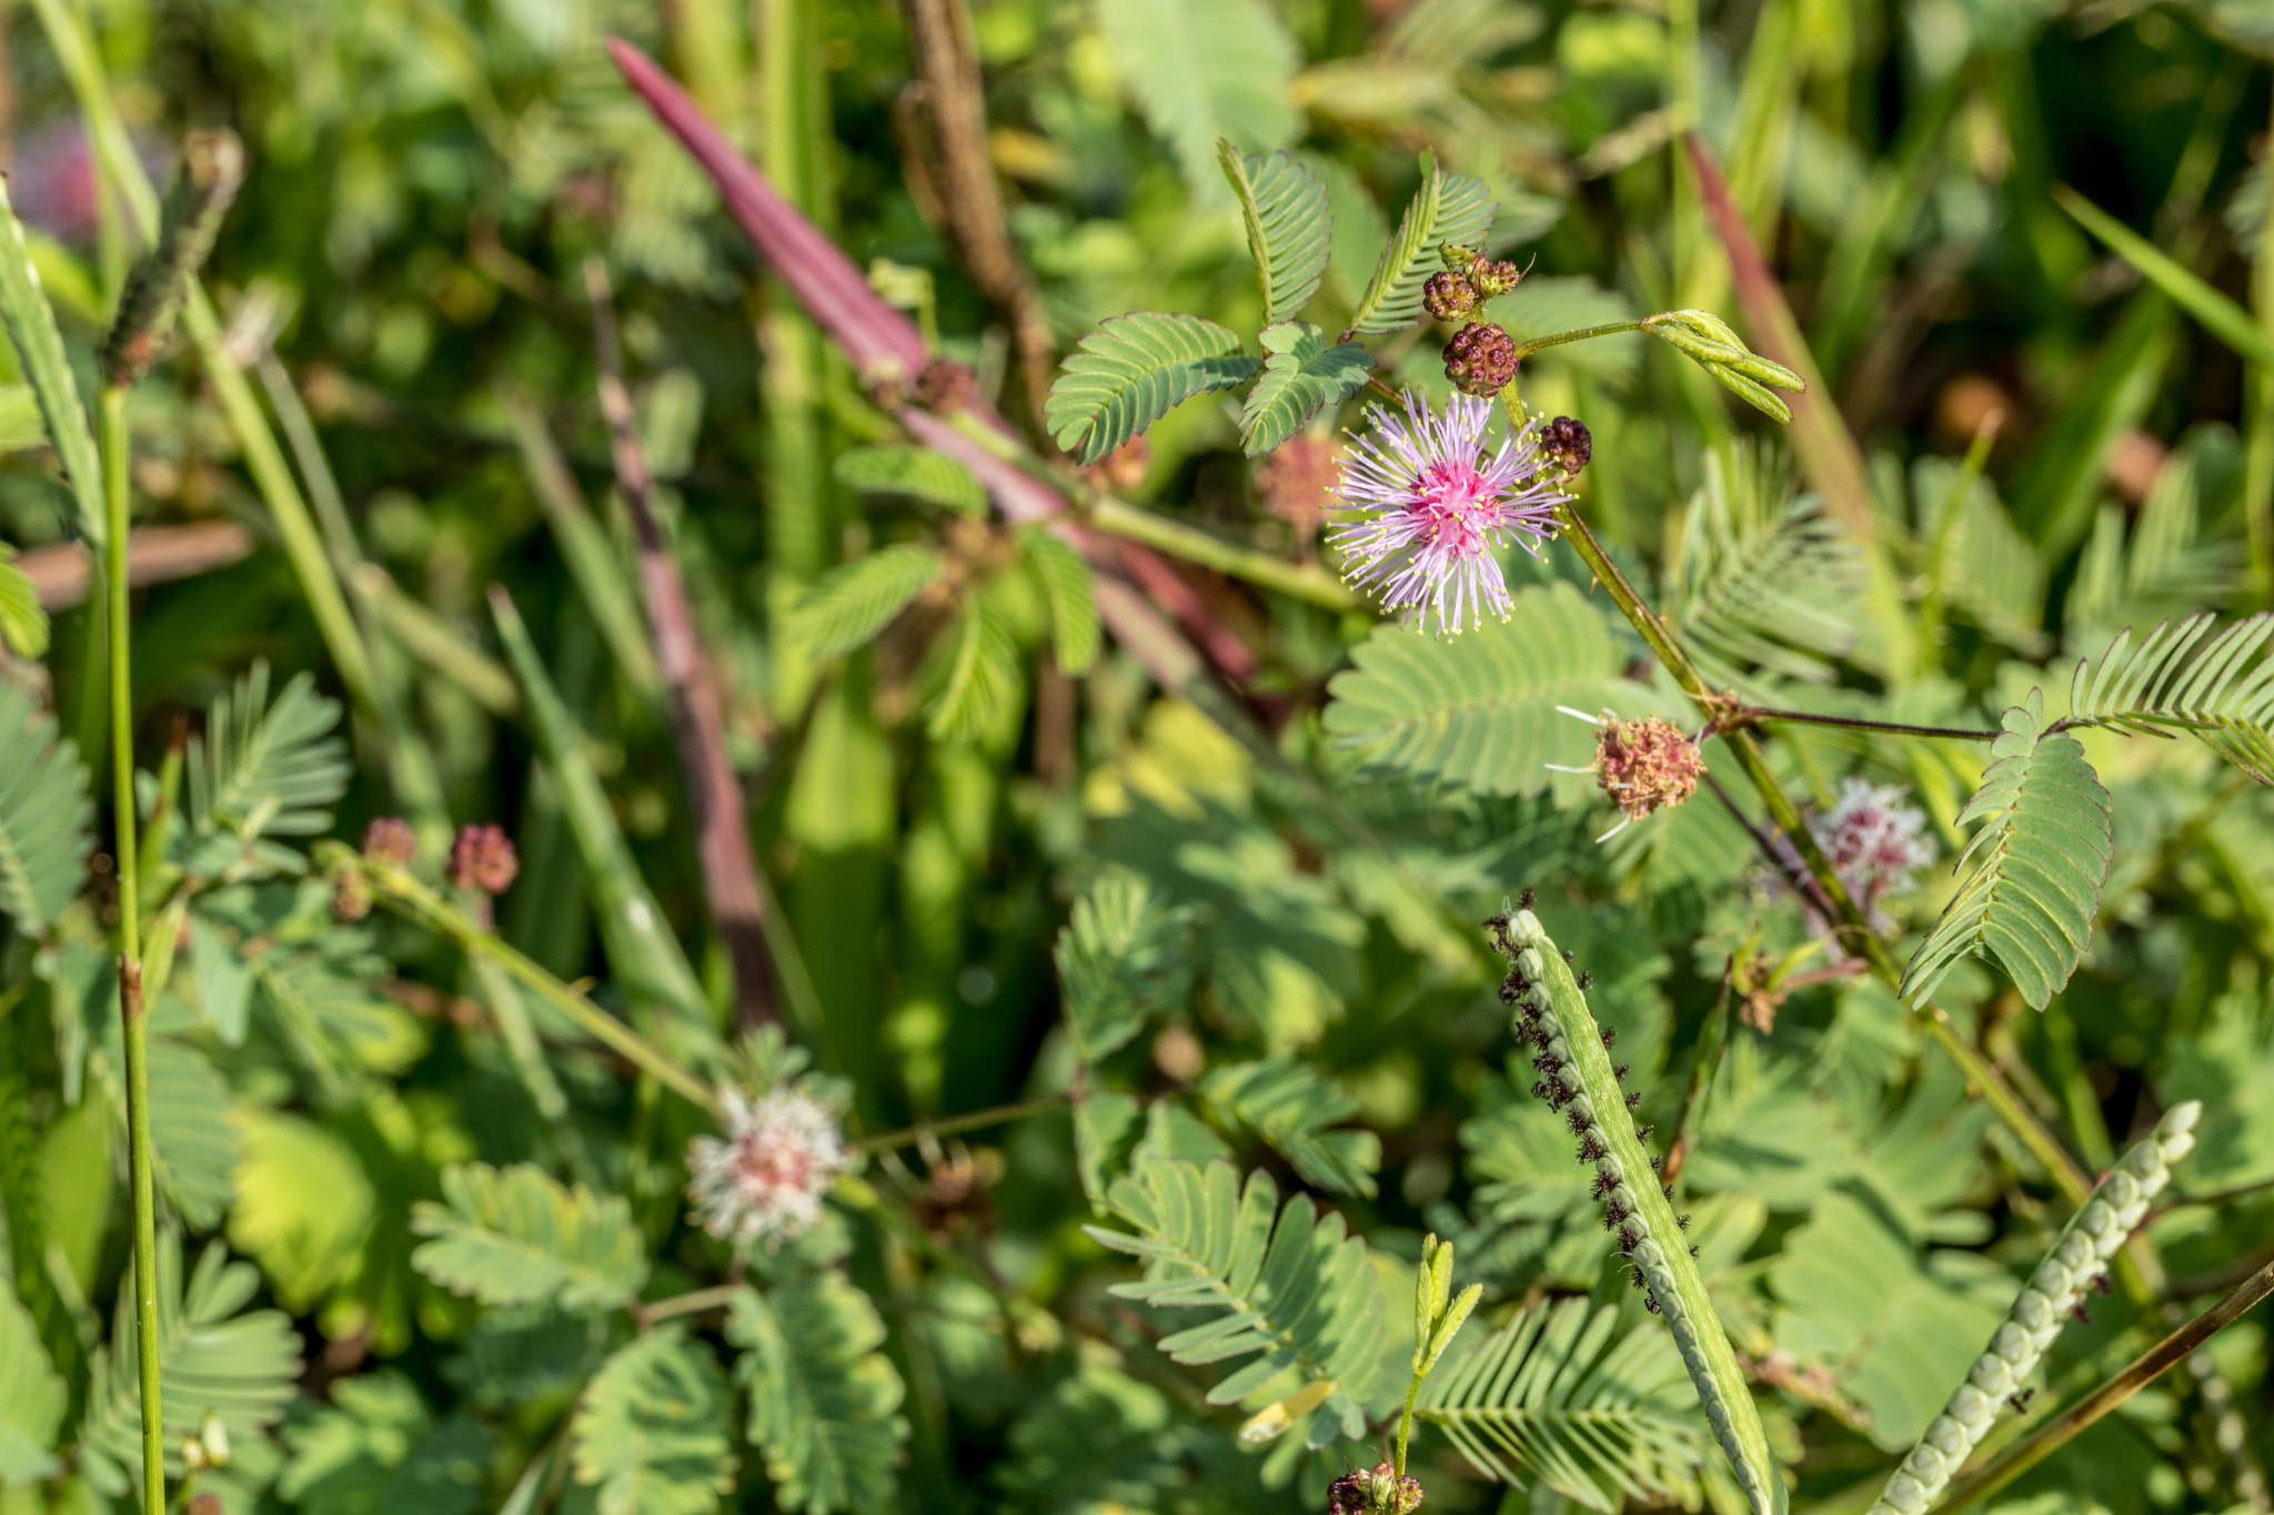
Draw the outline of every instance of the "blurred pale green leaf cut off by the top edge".
M1267 0L1098 0L1098 25L1196 198L1221 202L1219 139L1280 148L1303 132L1287 98L1303 50Z

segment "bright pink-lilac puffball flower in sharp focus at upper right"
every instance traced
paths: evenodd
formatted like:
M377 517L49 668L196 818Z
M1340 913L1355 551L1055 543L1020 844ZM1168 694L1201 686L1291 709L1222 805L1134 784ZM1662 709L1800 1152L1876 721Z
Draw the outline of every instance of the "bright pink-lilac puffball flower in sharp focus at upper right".
M1569 500L1562 468L1539 452L1539 429L1526 425L1487 454L1489 400L1453 395L1437 416L1417 391L1405 391L1405 416L1373 407L1367 418L1373 429L1342 463L1342 509L1326 534L1342 577L1437 636L1478 627L1485 611L1505 620L1494 547L1512 534L1539 556L1555 534L1555 504Z

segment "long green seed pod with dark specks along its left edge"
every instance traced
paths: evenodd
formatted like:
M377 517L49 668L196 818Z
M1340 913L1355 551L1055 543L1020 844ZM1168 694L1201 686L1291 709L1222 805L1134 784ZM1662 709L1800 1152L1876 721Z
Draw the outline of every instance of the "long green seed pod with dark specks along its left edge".
M1687 1217L1674 1215L1671 1188L1658 1181L1658 1158L1642 1145L1646 1129L1635 1129L1628 1095L1619 1088L1626 1070L1612 1065L1608 1052L1617 1031L1605 1033L1594 1022L1587 995L1530 909L1505 911L1485 924L1510 961L1501 997L1514 1006L1517 1036L1533 1045L1533 1068L1544 1074L1533 1093L1562 1111L1578 1138L1580 1161L1594 1163L1603 1217L1635 1265L1635 1283L1649 1292L1651 1308L1667 1317L1706 1420L1753 1515L1783 1515L1785 1483L1769 1456L1769 1436L1760 1426L1737 1354L1721 1333L1706 1279L1683 1240Z

